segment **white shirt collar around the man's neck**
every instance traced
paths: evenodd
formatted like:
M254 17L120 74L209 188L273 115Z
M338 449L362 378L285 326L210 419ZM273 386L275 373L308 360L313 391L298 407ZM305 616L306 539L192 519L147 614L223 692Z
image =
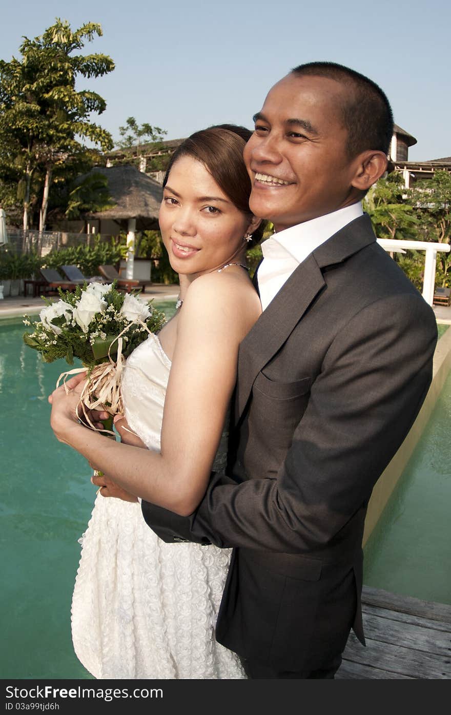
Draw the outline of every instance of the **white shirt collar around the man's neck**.
M301 263L315 248L362 215L362 204L359 201L356 204L345 206L343 209L279 231L262 243L264 258L287 258L288 254Z

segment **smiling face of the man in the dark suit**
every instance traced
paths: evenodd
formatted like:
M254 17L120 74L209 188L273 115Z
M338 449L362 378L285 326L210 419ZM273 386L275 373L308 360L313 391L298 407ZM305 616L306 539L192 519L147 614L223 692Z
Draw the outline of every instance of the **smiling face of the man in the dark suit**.
M252 213L277 231L355 203L358 158L347 154L348 90L325 77L288 74L272 87L244 148Z

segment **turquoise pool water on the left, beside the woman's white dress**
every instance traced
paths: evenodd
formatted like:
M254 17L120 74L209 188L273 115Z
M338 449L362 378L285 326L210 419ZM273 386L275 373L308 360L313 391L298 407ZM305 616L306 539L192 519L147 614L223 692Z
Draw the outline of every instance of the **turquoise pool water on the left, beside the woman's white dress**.
M167 317L174 301L158 302ZM71 593L96 488L83 457L49 427L64 360L45 364L0 320L0 677L91 678L72 650Z

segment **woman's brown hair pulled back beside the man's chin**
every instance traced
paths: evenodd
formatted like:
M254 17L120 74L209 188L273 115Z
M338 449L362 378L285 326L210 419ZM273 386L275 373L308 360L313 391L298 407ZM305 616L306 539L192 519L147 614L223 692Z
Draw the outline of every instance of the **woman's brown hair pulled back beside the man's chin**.
M251 180L244 165L243 149L252 132L245 127L235 124L218 124L208 129L194 132L172 154L167 172L164 176L163 187L166 186L169 172L177 159L193 157L212 174L214 181L232 204L244 214L252 216L249 210L249 196L251 194ZM262 240L264 226L262 223L252 234L249 247Z

